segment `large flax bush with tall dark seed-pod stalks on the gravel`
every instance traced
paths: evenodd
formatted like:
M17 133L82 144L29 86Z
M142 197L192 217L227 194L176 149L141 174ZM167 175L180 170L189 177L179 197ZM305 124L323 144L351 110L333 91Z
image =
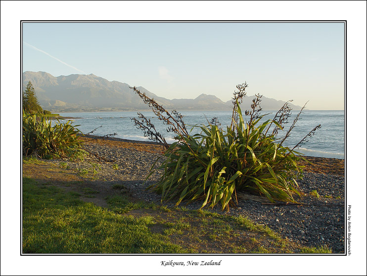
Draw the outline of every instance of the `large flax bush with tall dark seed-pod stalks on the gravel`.
M239 104L246 87L246 84L238 85L238 92L234 92L232 124L226 131L221 129L217 118L213 118L206 126L195 126L201 133L194 135L187 132L180 113L176 110L169 113L134 87L158 118L169 125L168 131L175 132L179 138L168 145L141 113L141 121L133 118L145 136L162 142L167 148L165 160L157 169L163 170L161 178L150 186L162 194L162 200L176 198L176 205L183 200L202 200L201 208L207 204L214 207L221 203L222 209L225 209L234 203L237 192L266 196L272 202L295 202L293 195L301 195L296 179L302 177L302 167L297 165L300 157L294 149L321 126L317 126L292 149L283 146L302 110L285 136L277 138L278 130L283 130L291 114L288 102L273 120L261 122L265 115L260 115L261 95L258 94L251 110L245 112L249 116L249 120L245 121Z

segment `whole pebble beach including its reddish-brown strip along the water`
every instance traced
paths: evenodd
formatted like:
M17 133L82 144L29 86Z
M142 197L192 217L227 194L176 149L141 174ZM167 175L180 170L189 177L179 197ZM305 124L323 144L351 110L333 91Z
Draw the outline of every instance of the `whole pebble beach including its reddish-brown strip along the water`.
M91 140L92 139L92 140ZM34 179L60 181L65 178L70 186L97 191L92 197L82 196L86 202L108 207L106 198L118 194L113 187L123 185L124 191L134 202L142 201L174 208L176 201L161 202L161 195L151 189L160 177L155 172L148 179L150 168L159 166L164 147L153 141L136 141L122 138L102 138L88 135L82 138L87 154L84 161L68 159L45 160L46 163L62 168L59 174L45 170L45 165L23 165L23 170ZM326 245L333 253L345 250L345 181L344 160L309 157L313 164L305 162L303 179L297 180L303 196L296 198L298 205L272 205L256 198L241 198L229 211L220 206L210 209L222 215L245 216L257 224L268 226L283 238L301 245ZM40 166L40 167L38 167ZM81 172L90 172L81 174ZM94 173L93 173L94 172ZM77 181L77 182L76 182ZM78 184L74 184L78 183ZM316 192L316 195L314 193ZM202 202L182 203L188 210L197 210Z

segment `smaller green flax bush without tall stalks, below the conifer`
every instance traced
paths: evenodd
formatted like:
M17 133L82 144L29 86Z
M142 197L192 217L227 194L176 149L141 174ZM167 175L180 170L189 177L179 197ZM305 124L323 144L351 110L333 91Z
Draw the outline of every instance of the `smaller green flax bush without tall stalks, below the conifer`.
M80 148L78 126L71 121L52 127L47 116L39 112L35 115L23 110L23 155L38 155L43 159L52 156L68 156Z

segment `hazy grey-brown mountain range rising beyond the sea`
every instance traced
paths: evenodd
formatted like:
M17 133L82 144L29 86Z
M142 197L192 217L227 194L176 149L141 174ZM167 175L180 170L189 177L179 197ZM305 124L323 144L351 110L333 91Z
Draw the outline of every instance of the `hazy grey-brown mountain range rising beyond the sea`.
M23 91L28 82L35 88L41 106L52 112L145 110L149 107L126 83L108 81L93 74L54 77L46 72L23 73ZM214 95L200 94L195 99L166 99L138 87L140 92L154 98L167 110L231 110L231 100L224 102ZM254 96L244 96L241 106L250 109ZM278 110L285 102L262 97L263 110ZM294 110L301 106L290 104Z

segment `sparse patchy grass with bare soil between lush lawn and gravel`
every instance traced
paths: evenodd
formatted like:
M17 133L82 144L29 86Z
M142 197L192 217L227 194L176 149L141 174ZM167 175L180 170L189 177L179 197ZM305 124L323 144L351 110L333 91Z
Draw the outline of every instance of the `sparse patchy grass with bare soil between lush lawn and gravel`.
M245 217L132 203L124 195L109 197L107 203L118 214L150 218L153 233L193 253L250 253L261 251L261 246L270 253L292 253L295 249L269 228L255 225Z

